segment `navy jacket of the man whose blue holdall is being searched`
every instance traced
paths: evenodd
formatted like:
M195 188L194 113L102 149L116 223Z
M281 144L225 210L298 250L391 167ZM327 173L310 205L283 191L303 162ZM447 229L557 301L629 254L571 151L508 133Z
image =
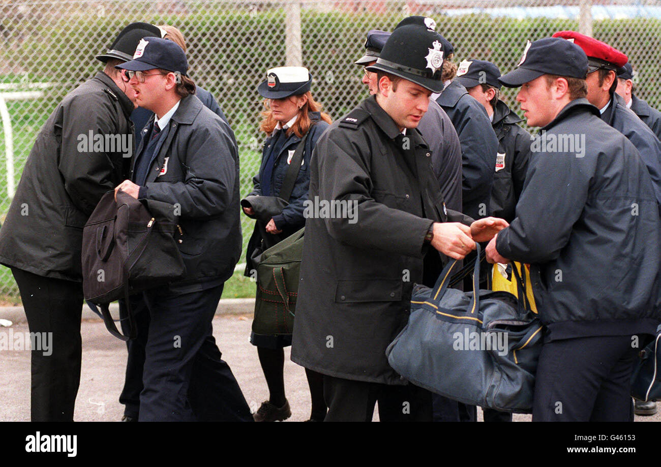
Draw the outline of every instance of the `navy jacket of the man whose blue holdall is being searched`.
M534 153L516 219L496 250L531 263L549 339L654 333L661 318L658 207L634 145L576 99L543 127L584 135L584 153Z

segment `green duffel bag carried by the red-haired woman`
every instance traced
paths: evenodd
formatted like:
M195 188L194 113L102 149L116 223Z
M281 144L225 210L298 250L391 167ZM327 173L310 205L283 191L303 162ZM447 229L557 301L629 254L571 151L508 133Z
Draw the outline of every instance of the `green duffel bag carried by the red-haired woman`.
M257 265L254 334L292 334L305 228L268 248Z

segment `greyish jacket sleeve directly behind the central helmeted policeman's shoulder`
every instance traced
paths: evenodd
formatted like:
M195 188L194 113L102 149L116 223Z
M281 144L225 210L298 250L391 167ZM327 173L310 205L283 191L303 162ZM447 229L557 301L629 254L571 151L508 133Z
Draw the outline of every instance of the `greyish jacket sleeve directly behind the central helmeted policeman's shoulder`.
M435 100L429 101L418 129L432 151L434 175L447 209L461 211L461 144L446 111Z

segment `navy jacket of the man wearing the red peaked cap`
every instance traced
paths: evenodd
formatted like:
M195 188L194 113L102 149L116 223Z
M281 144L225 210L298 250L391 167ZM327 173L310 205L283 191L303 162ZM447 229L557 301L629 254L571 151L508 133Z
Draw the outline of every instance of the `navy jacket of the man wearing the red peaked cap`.
M656 200L661 209L661 143L652 130L627 108L619 94L611 94L611 99L611 104L602 114L602 120L625 135L638 149L652 177Z

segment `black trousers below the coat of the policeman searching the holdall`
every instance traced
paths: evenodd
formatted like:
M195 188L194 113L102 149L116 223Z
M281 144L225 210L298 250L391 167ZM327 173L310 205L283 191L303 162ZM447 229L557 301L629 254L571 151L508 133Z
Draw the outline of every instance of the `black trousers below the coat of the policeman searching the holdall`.
M407 384L394 386L324 375L324 421L371 421L379 402L381 421L432 421L432 393Z

